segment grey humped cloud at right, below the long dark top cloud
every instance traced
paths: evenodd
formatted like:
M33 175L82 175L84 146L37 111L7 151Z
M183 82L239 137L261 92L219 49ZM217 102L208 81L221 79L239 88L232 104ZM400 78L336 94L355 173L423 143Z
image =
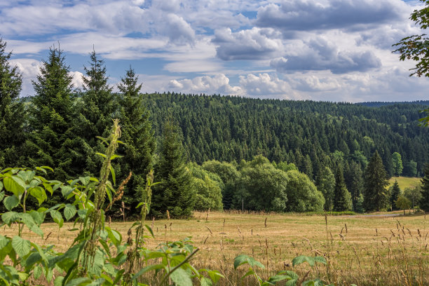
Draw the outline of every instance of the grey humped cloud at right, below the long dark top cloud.
M321 37L308 41L307 47L299 55L272 60L271 67L283 73L329 69L334 74L381 67L381 60L370 50L338 51L334 44Z

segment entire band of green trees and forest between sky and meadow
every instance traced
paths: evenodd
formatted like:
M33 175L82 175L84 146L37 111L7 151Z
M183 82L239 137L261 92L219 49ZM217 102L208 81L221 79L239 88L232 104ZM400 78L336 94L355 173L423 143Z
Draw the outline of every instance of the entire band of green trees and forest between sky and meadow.
M47 165L52 178L63 181L97 174L106 148L102 136L118 118L123 144L113 183L132 176L113 214L125 207L135 213L152 168L161 182L152 197L157 217L167 210L172 217L189 217L193 210L229 208L380 210L392 206L387 177L428 177L428 130L416 124L419 104L373 109L142 94L131 67L114 92L95 51L84 67L83 88L75 89L64 53L55 46L33 81L34 96L20 99L22 76L10 58L0 40L0 168Z

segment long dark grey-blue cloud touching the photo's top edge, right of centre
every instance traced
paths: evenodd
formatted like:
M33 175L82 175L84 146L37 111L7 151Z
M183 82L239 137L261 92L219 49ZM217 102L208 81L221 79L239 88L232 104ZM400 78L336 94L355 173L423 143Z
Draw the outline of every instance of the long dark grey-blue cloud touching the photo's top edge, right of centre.
M260 7L255 24L285 31L366 29L369 25L404 20L409 11L400 0L283 0Z

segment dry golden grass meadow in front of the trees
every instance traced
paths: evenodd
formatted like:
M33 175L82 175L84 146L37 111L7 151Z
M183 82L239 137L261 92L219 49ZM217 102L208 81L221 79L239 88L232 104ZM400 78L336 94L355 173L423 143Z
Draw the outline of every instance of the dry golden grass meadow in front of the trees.
M131 222L114 222L126 240ZM151 221L147 222L149 226ZM56 224L43 224L45 239L26 232L23 236L65 250L76 233L71 224L58 231ZM4 231L13 235L15 229ZM253 285L240 280L244 272L233 271L233 259L249 254L261 261L264 276L291 268L297 255L323 255L328 266L313 268L310 277L336 285L429 285L428 221L426 217L300 216L299 214L241 214L196 212L189 220L156 220L155 239L148 247L191 236L200 248L193 264L217 269L226 279L221 285ZM294 269L304 273L308 265ZM243 269L244 271L244 269Z

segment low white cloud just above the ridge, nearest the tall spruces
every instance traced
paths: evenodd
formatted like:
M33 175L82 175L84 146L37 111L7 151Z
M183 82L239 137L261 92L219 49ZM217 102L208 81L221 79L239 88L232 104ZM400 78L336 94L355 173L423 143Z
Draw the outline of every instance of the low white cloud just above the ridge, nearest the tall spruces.
M172 80L168 88L184 93L220 93L222 95L239 95L242 90L238 86L230 86L229 78L224 74L216 76L197 76L193 79Z

